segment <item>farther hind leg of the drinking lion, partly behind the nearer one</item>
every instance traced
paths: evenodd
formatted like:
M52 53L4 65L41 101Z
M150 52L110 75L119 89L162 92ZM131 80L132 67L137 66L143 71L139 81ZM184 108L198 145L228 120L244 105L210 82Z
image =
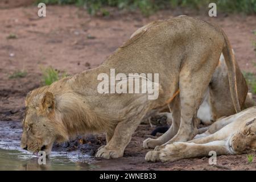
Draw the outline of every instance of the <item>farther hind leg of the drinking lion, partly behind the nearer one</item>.
M175 136L180 126L180 97L179 94L172 100L170 106L170 112L172 112L172 125L171 127L157 139L148 138L143 141L144 148L155 148L163 143L166 143L172 137Z

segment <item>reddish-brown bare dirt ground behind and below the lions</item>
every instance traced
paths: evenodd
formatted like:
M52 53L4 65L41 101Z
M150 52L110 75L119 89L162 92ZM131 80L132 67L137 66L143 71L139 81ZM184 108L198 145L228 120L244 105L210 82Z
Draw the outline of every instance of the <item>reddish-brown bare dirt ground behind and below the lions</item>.
M187 10L163 10L149 18L141 14L110 9L108 17L92 17L84 9L75 6L47 6L47 16L39 18L38 8L29 0L4 0L0 2L0 121L13 122L20 127L24 113L24 97L27 92L42 85L40 68L51 65L68 74L97 67L118 46L129 39L137 28L156 19L187 14L209 22L218 23L228 35L237 61L246 72L256 72L256 16L220 14L218 18L191 13ZM26 6L20 6L26 5ZM27 6L28 5L28 6ZM8 39L16 35L15 39ZM18 70L26 70L27 76L10 79ZM255 170L256 162L248 164L246 155L219 156L217 165L209 166L208 158L184 159L173 163L147 163L142 142L151 132L149 125L140 125L121 159L96 159L98 169L121 170ZM1 136L0 136L1 137ZM91 137L91 139L90 139ZM80 137L55 150L90 150L104 144L102 134ZM75 143L75 144L74 144ZM74 147L75 146L75 147Z

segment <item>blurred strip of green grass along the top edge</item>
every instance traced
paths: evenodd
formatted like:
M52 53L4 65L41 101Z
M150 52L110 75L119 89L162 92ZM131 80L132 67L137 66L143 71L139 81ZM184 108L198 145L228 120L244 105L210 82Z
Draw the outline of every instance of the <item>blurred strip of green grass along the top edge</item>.
M211 2L217 4L217 10L226 13L256 13L256 0L37 0L36 2L84 6L91 15L96 15L98 12L105 15L105 12L102 13L102 6L129 10L139 9L143 15L148 16L159 9L176 8L178 6L208 10L208 5Z

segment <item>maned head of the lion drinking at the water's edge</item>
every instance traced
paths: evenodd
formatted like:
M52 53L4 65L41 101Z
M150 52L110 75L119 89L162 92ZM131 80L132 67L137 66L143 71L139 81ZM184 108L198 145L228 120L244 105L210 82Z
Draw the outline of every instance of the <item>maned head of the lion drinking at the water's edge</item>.
M113 126L86 105L85 97L68 86L64 88L67 80L63 78L27 94L21 148L35 155L39 151L49 155L55 141L64 142L77 134L102 132Z

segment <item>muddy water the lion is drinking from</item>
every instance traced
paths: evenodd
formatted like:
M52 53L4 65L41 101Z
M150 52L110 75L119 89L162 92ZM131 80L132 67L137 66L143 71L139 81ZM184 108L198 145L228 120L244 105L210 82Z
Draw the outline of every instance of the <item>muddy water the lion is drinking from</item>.
M21 126L0 121L0 171L1 170L90 170L90 156L80 152L52 152L46 164L39 164L36 156L20 150Z

